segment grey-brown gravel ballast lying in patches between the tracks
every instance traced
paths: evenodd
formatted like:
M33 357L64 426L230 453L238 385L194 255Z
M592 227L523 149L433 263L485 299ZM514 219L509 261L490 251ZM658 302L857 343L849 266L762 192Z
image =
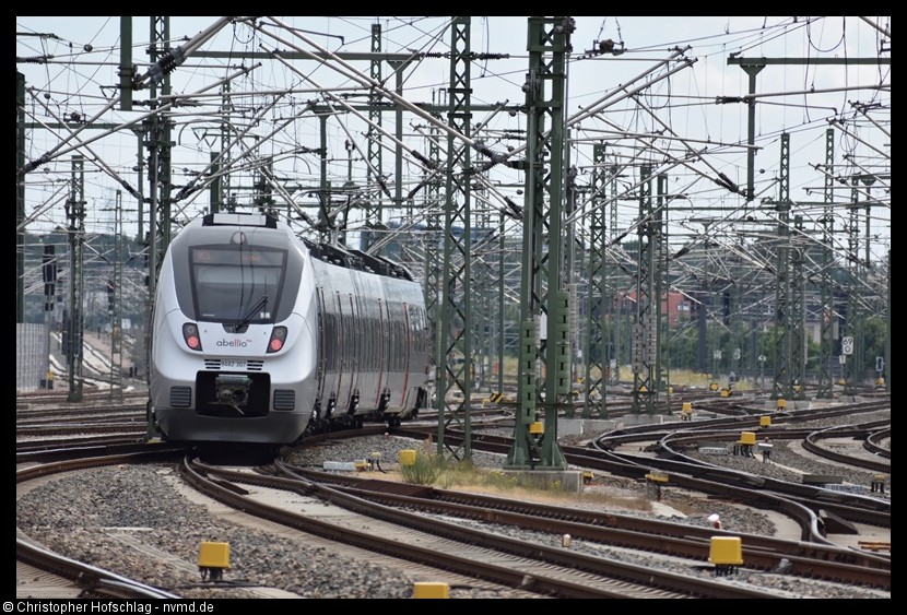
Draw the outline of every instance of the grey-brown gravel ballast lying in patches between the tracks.
M368 459L373 452L380 452L381 459L396 461L399 451L404 448L414 448L412 440L380 437L341 440L330 447L287 451L287 459L299 465L320 468L323 461ZM779 466L784 459L779 450L773 452L773 460L779 464L774 470L769 470L771 464L762 464L752 459L721 459L727 463L741 464L741 469L746 471L784 471ZM714 460L710 458L710 461ZM474 452L473 462L476 465L499 468L502 458ZM808 461L788 459L784 464L792 465L794 462ZM386 570L369 563L351 561L337 557L328 549L313 548L304 540L275 539L266 532L239 528L212 516L207 508L188 501L167 481L162 480L162 474L170 472L172 468L163 465L129 465L86 470L52 480L32 489L16 502L19 528L33 540L58 553L118 571L150 586L170 589L186 598L245 598L248 594L237 590L228 590L226 593L219 590L212 594L208 588L199 587L198 571L174 567L139 552L125 552L122 543L113 537L111 532L128 531L143 543L173 553L186 563L197 560L198 545L203 541L228 542L232 566L229 579L244 579L252 586L282 588L305 598L411 596L413 580L394 570ZM862 481L865 473L858 474L860 476L857 480ZM582 506L604 507L611 512L660 515L673 521L699 525L708 525L707 517L719 513L725 529L762 534L771 534L774 531L771 521L761 513L715 501L704 502L673 494L670 489L663 495L660 505L653 506L650 511L627 509L620 506L621 499L638 501L645 497L643 486L612 477L600 477L597 482L597 488L610 493L613 498L605 505L588 501L582 502ZM890 497L890 492L886 495ZM576 502L569 505L575 506ZM561 540L559 536L540 535L513 528L497 528L495 531L545 544L559 544ZM693 566L690 561L676 558L640 555L601 545L584 545L579 541L574 541L573 545L573 548L581 548L602 557L669 567L682 573L712 573L707 567ZM749 582L771 588L774 591L786 592L790 598L891 598L890 592L745 569L739 571L735 578L729 578L728 582ZM460 588L450 590L450 598L454 599L525 596L522 592Z

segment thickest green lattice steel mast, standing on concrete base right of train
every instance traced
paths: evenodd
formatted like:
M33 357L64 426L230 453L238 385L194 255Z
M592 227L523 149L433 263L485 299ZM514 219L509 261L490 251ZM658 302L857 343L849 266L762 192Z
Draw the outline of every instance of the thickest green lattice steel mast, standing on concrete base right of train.
M523 85L528 117L518 400L507 469L567 466L557 445L557 413L570 392L568 294L561 287L561 218L566 59L575 28L572 17L529 17L529 71ZM537 341L542 316L546 317L546 334ZM543 378L538 376L540 358L545 366ZM541 429L539 407L544 415Z

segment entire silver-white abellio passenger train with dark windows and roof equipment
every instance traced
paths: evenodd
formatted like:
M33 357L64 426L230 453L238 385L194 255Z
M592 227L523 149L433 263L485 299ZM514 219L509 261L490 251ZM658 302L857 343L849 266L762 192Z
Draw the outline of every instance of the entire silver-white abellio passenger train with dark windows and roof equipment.
M397 425L426 402L421 284L272 216L184 227L153 310L149 422L164 439L284 445L364 419Z

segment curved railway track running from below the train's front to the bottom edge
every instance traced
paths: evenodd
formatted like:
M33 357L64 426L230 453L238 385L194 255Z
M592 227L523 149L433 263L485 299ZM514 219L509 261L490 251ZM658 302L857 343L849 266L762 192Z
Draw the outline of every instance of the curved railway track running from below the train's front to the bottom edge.
M344 493L325 483L304 478L286 466L279 465L278 469L282 476L223 470L198 462L180 466L192 485L235 508L317 535L331 536L348 544L387 552L394 557L455 570L513 589L553 598L777 598L771 592L753 588L729 587L726 582L710 579L691 579L426 518L401 509L400 502L391 508L387 506L387 500L369 501L360 494ZM297 515L284 508L262 505L250 499L249 494L238 493L232 487L236 484L317 495L319 500L352 511L355 520L349 521L344 516L344 522L338 523L333 512L325 517Z

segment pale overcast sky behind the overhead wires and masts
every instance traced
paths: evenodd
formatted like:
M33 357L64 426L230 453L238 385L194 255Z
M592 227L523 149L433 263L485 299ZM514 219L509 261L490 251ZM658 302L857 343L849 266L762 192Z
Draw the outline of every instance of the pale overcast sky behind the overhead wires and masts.
M829 173L840 187L834 190L831 204L838 228L844 227L850 211L850 178L871 178L872 185L864 182L857 199L861 205L871 205L865 210L871 258L884 258L890 250L891 225L891 66L812 60L881 58L890 62L890 16L572 19L575 29L567 55L565 113L570 164L577 168L577 182L591 185L597 173L592 146L605 143L606 164L620 168L614 206L621 228L631 228L638 213L636 187L639 168L645 165L668 176L668 193L679 203L670 214L673 236L679 240L703 233L722 241L750 240L754 235L746 235L749 232L734 222L751 215L759 223L770 223L776 216L770 208L757 205L779 198L781 134L787 133L789 198L797 203L794 211L805 218L806 233L813 234L823 213L829 211L823 200ZM369 62L250 60L242 56L281 49L369 51L372 26L380 24L381 51L424 55L407 64L402 73L402 102L446 105L450 17L276 16L257 17L255 27L245 20L170 17L174 46L191 46L199 33L216 29L170 74L172 93L187 95L191 102L172 107L167 115L174 127L175 192L198 186L193 181L199 182L200 174L210 170L211 152L225 149L232 196L237 202L248 202L254 175L267 164L281 186L278 198L317 217L311 191L319 186L321 159L314 151L320 146L323 130L326 168L334 188L352 182L353 191L362 198L388 201L382 214L388 223L419 222L440 211L441 203L432 201L424 189L414 208L394 208L387 197L398 191L407 194L429 175L420 155L427 156L432 143L437 144L441 159L446 158L443 122L426 117L425 111L404 113L399 130L393 114L384 114L380 151L387 192L369 173L368 116L355 110L356 104L367 100ZM132 61L140 74L149 70L150 24L150 17L131 17ZM468 141L459 137L455 141L479 141L502 155L513 147L516 153L511 155L518 156L526 116L509 109L526 103L528 17L472 16L470 24L471 50L476 55L470 64L471 102L485 107L472 114ZM613 42L605 43L612 52L600 52L600 42L608 40ZM150 113L150 92L134 93L133 110L120 109L115 87L120 48L117 16L16 17L16 70L25 75L25 119L32 126L26 130L25 158L34 167L19 177L26 185L26 226L32 232L66 224L64 201L76 154L85 157L86 230L111 232L114 204L121 199L123 228L129 234L138 232L137 200L125 187L149 194L146 152L140 152L129 125L140 125ZM222 54L202 57L205 51ZM769 64L756 75L756 198L752 202L740 190L729 189L727 182L716 181L723 177L731 186L745 188L747 177L747 105L741 97L749 94L749 78L740 66L729 64L731 57L810 60ZM393 88L389 64L382 64L381 76ZM228 98L224 95L227 87ZM224 110L227 104L228 113ZM333 110L322 119L311 111L311 104L329 105ZM490 110L495 105L504 109ZM584 117L587 110L593 113ZM57 127L62 120L69 122L69 129ZM72 137L78 128L81 130ZM834 146L831 169L825 167L828 129L833 129ZM404 147L399 173L394 165L398 132ZM485 162L474 151L471 155L473 163ZM521 173L496 165L478 179L485 191L475 197L476 215L487 212L497 216L505 199L522 204ZM177 226L209 206L207 189L189 192L175 203ZM573 220L580 232L588 226L594 206L591 197L580 197ZM351 213L350 228L361 223ZM844 244L839 246L843 251Z

